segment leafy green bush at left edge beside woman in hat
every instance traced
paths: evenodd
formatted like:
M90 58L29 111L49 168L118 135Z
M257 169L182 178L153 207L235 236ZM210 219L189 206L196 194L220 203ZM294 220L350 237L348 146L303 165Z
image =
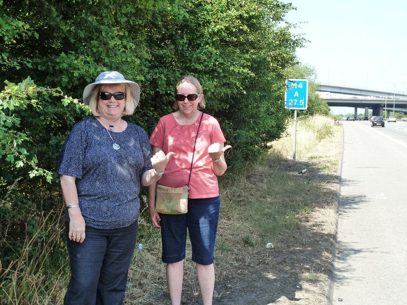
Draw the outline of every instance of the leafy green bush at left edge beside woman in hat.
M0 92L0 249L7 266L23 236L38 234L39 216L61 208L54 176L61 147L89 107L30 78L6 83Z

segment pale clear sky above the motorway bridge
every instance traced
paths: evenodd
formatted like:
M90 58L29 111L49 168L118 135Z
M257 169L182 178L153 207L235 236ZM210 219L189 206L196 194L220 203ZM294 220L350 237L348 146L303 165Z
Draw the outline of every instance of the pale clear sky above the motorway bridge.
M282 2L297 8L285 20L296 23L293 32L308 40L297 57L314 68L317 82L407 92L407 1ZM335 114L344 108L331 107Z

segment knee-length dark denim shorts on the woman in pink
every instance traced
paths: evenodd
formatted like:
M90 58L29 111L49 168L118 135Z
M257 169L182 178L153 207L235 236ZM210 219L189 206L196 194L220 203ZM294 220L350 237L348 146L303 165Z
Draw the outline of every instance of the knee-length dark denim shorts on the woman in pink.
M187 214L160 214L162 261L168 264L185 259L188 229L192 261L201 265L213 264L219 210L220 198L217 196L188 199Z

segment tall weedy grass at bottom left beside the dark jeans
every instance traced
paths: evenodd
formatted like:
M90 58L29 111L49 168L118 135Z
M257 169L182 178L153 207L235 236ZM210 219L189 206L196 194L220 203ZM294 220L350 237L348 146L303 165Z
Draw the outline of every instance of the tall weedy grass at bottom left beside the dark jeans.
M36 233L26 235L20 252L1 270L2 304L59 304L68 278L68 256L62 243L61 212L51 212L38 219ZM2 252L9 246L1 240ZM7 258L3 258L6 260Z

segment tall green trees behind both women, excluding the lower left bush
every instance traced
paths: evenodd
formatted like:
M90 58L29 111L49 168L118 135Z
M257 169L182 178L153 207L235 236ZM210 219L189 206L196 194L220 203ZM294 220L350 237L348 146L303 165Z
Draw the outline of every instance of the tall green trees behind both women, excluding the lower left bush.
M226 138L246 146L229 156L239 162L283 130L284 68L302 44L284 21L290 8L275 0L6 1L20 31L4 53L18 67L1 72L80 98L100 72L120 71L141 86L136 120L149 131L170 111L177 80L195 75Z

